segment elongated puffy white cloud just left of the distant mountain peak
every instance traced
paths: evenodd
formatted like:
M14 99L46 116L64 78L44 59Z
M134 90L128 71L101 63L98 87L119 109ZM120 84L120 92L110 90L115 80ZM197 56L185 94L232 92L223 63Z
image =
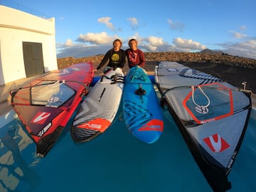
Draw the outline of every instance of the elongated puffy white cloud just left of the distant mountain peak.
M200 43L193 41L191 39L174 38L174 45L177 48L183 48L183 49L189 49L189 50L206 49L206 46L203 46Z

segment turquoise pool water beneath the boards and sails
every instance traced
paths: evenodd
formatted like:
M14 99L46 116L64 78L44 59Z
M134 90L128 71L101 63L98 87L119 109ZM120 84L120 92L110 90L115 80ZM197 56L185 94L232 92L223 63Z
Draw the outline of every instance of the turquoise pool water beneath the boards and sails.
M0 128L0 191L211 191L164 112L164 132L154 144L139 142L122 120L122 109L104 134L76 144L70 123L44 159L14 119ZM252 112L238 158L228 178L230 191L255 191L256 112ZM18 146L18 147L17 147Z

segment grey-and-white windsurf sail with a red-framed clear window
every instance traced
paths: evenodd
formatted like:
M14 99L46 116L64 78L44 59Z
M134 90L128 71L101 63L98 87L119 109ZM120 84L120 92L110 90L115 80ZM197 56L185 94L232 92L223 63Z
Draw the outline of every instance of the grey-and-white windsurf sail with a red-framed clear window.
M156 65L155 80L213 191L230 189L228 174L245 136L251 92L176 62Z

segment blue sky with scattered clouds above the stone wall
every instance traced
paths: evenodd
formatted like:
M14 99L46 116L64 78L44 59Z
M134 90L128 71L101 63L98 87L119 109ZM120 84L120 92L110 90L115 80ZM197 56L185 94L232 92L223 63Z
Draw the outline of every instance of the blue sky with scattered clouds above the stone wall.
M7 1L7 0L4 0ZM105 54L116 38L144 52L206 48L256 59L255 0L13 0L55 18L57 58Z

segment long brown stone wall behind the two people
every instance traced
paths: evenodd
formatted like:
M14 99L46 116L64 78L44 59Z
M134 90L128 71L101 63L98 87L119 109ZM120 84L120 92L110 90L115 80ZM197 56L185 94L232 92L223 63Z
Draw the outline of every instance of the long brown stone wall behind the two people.
M146 62L157 62L159 60L171 60L180 63L220 63L225 65L233 65L242 68L256 68L256 60L250 58L242 58L232 55L206 54L206 53L184 53L184 52L146 52L144 53ZM96 66L100 63L104 55L95 55L87 58L58 58L58 68L63 69L74 63L83 63L92 61Z

